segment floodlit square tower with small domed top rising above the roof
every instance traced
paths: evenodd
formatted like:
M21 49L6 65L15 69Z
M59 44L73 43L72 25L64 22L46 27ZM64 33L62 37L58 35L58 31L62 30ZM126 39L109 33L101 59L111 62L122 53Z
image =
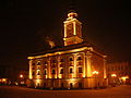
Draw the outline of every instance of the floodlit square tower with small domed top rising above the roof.
M76 20L78 14L74 11L68 13L68 19L64 23L64 46L75 45L83 41L82 39L82 23Z

